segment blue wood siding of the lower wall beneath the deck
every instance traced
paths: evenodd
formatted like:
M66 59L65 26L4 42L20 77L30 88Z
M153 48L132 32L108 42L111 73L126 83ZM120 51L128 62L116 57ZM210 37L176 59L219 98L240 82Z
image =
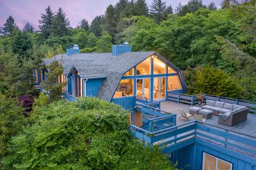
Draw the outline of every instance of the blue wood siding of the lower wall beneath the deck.
M203 153L208 153L212 156L220 158L221 160L228 161L233 164L233 170L255 170L256 165L250 164L247 161L240 160L235 155L228 155L225 153L225 149L222 152L211 149L200 144L192 144L182 149L176 150L171 153L171 161L175 163L178 161L178 168L183 169L202 169Z

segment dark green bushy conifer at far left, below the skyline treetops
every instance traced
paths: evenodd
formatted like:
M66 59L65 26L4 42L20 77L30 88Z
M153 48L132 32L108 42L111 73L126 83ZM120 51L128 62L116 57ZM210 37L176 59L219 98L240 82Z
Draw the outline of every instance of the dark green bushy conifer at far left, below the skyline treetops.
M12 40L12 52L19 55L19 58L30 58L28 52L32 48L30 37L22 31L17 31Z

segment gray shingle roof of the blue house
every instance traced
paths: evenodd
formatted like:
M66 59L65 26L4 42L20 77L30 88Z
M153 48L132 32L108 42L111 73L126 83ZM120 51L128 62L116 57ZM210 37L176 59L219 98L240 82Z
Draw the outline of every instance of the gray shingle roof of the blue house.
M75 67L83 79L107 77L102 82L97 97L110 101L122 74L153 53L155 52L125 52L116 57L112 56L112 53L78 53L70 56L59 54L44 60L44 63L49 64L53 60L61 61L64 74L68 74Z

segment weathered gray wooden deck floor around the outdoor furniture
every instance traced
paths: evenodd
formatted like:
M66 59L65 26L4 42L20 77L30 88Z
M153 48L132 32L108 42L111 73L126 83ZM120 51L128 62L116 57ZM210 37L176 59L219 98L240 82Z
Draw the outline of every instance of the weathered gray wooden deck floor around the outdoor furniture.
M182 104L172 101L162 101L160 104L160 109L166 112L172 112L177 115L177 122L176 125L183 125L184 123L188 123L189 121L184 121L183 118L179 119L180 117L180 109L183 109L185 112L189 112L189 107L192 107L188 104ZM189 118L190 120L194 120L193 117ZM234 126L226 126L218 123L218 117L212 115L212 118L205 120L205 123L208 123L213 126L218 126L219 128L228 129L231 131L235 131L237 133L254 136L256 137L256 115L255 114L248 114L247 120L241 123L238 123Z

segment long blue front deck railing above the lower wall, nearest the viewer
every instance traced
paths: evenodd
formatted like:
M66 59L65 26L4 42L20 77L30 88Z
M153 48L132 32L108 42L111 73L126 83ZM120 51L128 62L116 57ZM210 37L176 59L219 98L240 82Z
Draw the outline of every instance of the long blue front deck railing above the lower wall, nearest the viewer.
M163 153L170 153L197 142L215 144L244 155L256 155L255 136L237 133L196 120L154 132L131 125L130 131L135 137L151 146L159 145Z

